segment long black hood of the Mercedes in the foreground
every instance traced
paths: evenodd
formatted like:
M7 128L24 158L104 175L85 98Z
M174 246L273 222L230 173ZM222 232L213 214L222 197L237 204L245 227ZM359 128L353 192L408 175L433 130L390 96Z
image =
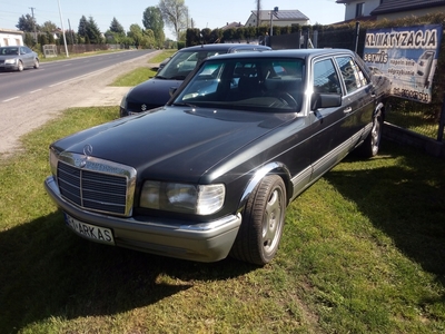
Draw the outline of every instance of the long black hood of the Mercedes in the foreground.
M294 114L162 107L120 118L52 146L138 170L139 176L197 183L215 165L244 146L291 120Z

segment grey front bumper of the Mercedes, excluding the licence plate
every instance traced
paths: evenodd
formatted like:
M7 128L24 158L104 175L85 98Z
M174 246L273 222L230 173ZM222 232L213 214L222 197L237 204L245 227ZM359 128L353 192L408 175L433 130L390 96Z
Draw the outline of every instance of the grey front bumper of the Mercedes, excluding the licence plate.
M241 224L240 215L218 220L189 224L147 216L130 218L83 210L65 200L52 176L44 188L63 212L90 225L112 229L116 246L197 262L216 262L227 257Z

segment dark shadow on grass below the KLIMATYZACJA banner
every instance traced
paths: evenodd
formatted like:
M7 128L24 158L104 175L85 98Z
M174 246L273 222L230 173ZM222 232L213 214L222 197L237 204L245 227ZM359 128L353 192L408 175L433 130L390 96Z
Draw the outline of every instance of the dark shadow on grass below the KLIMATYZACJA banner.
M388 154L403 163L378 167L378 159ZM445 160L393 143L385 143L380 156L369 164L373 160L377 167L337 168L325 178L445 286ZM356 161L352 156L343 164ZM445 296L442 299L445 303Z

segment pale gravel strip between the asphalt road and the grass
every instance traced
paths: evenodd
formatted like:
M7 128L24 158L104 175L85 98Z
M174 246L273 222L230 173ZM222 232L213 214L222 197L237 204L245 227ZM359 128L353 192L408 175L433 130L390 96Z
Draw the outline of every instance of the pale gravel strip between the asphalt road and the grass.
M116 106L116 112L122 96L130 87L110 87L116 78L140 67L152 67L149 59L158 55L149 55L121 62L91 75L75 78L42 91L30 94L18 100L1 105L0 157L7 158L20 149L20 137L48 120L59 116L61 111L72 107Z

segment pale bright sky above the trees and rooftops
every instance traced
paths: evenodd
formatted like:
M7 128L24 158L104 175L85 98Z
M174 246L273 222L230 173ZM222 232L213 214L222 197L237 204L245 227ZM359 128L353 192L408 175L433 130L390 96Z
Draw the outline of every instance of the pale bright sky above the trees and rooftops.
M127 2L128 1L128 2ZM147 7L156 7L159 0L0 0L0 29L17 30L16 24L21 16L30 14L38 24L51 21L58 27L77 31L82 16L92 17L99 29L105 32L116 18L126 31L131 24L142 24L142 14ZM195 28L221 28L231 22L246 23L253 10L255 0L186 0L189 17ZM344 4L335 0L261 0L263 10L298 9L309 18L310 24L329 24L343 21ZM60 8L60 11L59 11ZM60 19L60 13L62 20ZM172 38L172 30L165 26L165 33Z

